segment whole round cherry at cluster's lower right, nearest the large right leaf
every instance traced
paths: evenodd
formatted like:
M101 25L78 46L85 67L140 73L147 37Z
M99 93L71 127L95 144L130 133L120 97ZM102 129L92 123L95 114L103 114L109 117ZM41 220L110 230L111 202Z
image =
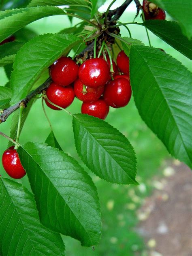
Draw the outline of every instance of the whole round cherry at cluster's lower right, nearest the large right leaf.
M130 82L126 78L117 78L105 86L103 98L113 108L125 107L131 98Z

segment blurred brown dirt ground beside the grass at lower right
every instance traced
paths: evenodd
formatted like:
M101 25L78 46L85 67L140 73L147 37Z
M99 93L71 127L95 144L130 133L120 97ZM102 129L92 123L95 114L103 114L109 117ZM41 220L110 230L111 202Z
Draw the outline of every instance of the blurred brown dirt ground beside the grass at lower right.
M137 229L145 237L148 256L192 256L192 172L175 161L154 181Z

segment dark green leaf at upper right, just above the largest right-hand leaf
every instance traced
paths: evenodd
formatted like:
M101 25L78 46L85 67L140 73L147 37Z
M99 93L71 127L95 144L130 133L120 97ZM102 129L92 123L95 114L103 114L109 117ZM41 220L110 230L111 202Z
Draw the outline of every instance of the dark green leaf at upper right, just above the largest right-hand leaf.
M147 20L143 22L143 26L192 60L192 41L183 36L177 22L160 19Z

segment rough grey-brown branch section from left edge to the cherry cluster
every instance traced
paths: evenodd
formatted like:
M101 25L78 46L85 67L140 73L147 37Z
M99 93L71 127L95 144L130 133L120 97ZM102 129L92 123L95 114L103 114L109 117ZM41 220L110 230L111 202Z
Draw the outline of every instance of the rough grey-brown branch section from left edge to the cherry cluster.
M19 101L18 103L16 103L15 105L9 107L8 109L4 109L3 113L0 115L0 124L5 122L7 117L9 117L9 115L11 115L15 110L19 109L19 106L21 104L24 104L25 106L27 105L27 103L36 95L41 93L43 90L45 90L47 87L49 87L49 85L51 84L52 80L49 77L42 85L40 85L38 88L36 88L34 91L30 92L30 94L28 94L28 96L26 96L26 98L24 98L23 100Z

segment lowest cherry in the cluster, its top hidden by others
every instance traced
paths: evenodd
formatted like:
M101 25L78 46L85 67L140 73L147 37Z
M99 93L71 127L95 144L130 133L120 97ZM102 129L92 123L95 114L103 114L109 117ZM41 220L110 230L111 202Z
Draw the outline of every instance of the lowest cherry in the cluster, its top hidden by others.
M81 113L105 119L109 113L109 106L103 99L99 99L94 102L83 102L81 106Z

